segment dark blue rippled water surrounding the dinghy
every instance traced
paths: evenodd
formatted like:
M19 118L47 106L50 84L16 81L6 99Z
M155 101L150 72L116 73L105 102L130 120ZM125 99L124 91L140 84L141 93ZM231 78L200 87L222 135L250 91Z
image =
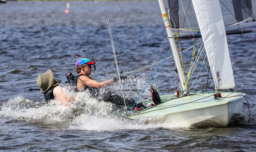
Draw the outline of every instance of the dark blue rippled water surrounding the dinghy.
M157 1L121 1L120 5L145 66L163 59L170 45ZM117 73L106 14L120 70L141 68L117 2L90 2L92 30L88 2L71 2L70 6L70 13L65 14L66 2L0 4L1 150L255 151L255 33L227 37L236 90L247 94L252 114L249 120L244 102L243 114L227 128L193 129L179 122L132 121L111 115L111 104L98 102L87 93L77 94L74 104L62 107L58 101L46 104L37 91L29 92L28 88L36 88L37 75L52 69L64 92L71 96L64 83L66 69L69 65L74 68L75 54L92 58L92 50L97 59L95 79L106 80ZM193 44L193 40L182 40L183 49ZM184 60L188 72L190 62ZM152 75L157 66L147 68L148 74ZM173 93L178 87L174 69L173 59L167 59L153 79L160 94ZM127 76L126 89L143 89L148 82L144 71ZM206 81L207 75L201 72L193 90L204 91ZM110 88L120 89L116 84ZM136 98L139 92L125 95ZM143 97L149 95L147 91Z

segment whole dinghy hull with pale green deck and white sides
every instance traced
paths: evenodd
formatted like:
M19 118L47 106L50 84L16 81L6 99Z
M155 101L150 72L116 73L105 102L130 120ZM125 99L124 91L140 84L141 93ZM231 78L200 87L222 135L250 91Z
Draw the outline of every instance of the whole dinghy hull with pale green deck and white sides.
M232 118L242 113L245 94L225 92L221 96L226 98L220 100L215 100L213 94L215 93L196 93L165 101L140 112L131 112L130 118L149 121L160 119L161 122L197 128L225 127ZM164 95L161 99L170 97L171 95ZM152 100L147 99L142 103L150 104L150 101Z

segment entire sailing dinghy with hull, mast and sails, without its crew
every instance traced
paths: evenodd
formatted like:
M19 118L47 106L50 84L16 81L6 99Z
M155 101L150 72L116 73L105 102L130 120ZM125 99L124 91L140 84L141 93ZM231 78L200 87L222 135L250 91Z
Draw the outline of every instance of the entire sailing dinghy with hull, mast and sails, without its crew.
M229 57L228 34L252 32L245 28L255 26L251 0L158 0L164 26L175 61L180 88L177 92L162 95L160 102L154 98L140 100L148 106L143 110L131 109L120 114L130 119L151 119L186 123L193 127L225 127L236 115L241 114L245 93L235 91L235 80ZM199 46L198 37L203 45ZM195 46L206 52L210 70L191 59L190 73L200 66L213 80L213 91L191 92L180 59L183 53L177 44L180 38L194 38ZM138 98L139 99L139 98ZM137 102L136 101L136 102ZM151 105L151 106L150 106ZM152 106L153 105L153 106Z

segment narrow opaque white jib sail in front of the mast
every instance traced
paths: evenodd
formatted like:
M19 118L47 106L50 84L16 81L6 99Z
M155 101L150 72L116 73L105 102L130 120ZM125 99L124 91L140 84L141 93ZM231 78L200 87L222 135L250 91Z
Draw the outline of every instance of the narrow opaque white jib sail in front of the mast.
M225 26L218 0L192 0L215 89L235 87Z

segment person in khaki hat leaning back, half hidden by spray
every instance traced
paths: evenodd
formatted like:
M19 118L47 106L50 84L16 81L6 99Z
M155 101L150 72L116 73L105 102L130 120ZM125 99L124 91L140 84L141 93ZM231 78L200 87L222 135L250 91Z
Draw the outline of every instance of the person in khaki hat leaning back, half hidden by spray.
M57 99L63 106L67 106L67 102L71 102L73 98L67 98L62 92L61 87L57 84L57 81L53 78L52 71L49 69L44 74L39 74L36 80L36 84L41 88L40 93L44 93L44 99L46 102Z

